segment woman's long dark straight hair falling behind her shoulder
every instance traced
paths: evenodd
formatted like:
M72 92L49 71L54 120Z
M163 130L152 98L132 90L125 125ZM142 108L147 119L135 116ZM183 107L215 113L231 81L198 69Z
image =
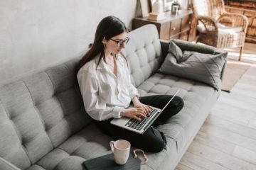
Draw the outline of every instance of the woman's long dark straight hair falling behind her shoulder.
M97 55L100 54L100 60L106 61L105 59L105 52L104 52L104 45L102 43L103 38L106 40L110 40L110 38L119 35L121 33L127 32L127 28L124 23L119 20L119 18L115 16L107 16L100 21L99 25L97 26L97 30L95 33L95 40L90 47L90 50L82 57L80 60L78 67L75 69L75 74L78 74L79 69L93 60ZM97 64L100 63L100 60Z

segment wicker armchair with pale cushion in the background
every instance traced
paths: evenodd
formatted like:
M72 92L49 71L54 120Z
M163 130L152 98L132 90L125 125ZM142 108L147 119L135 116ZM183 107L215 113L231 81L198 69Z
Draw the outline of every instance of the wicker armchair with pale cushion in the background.
M197 42L217 48L240 47L241 60L247 17L240 13L226 12L223 0L191 0L191 7L198 20Z

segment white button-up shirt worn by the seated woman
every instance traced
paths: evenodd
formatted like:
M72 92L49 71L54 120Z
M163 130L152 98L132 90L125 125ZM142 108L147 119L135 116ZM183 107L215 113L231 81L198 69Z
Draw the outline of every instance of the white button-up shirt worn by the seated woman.
M134 96L139 96L131 83L127 62L117 55L117 76L100 60L100 55L87 62L78 72L78 84L85 111L95 120L120 118Z

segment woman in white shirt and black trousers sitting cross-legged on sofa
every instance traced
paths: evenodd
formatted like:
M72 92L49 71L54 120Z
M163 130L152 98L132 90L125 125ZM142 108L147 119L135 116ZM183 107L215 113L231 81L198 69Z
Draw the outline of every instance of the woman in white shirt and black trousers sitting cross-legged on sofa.
M114 140L124 139L132 146L147 152L160 152L166 145L162 132L150 127L143 135L110 124L112 118L140 120L151 111L151 106L163 108L172 96L139 97L132 85L128 63L122 49L129 42L127 28L114 16L100 21L90 50L82 57L78 67L78 83L85 111L95 120L102 132ZM130 103L132 108L128 108ZM176 96L154 125L159 125L183 108L183 100Z

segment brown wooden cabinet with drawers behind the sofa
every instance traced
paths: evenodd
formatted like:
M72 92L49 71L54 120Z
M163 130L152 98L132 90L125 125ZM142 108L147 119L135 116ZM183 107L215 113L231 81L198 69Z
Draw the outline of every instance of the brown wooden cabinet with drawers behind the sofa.
M190 10L180 10L178 15L171 15L171 12L166 12L166 18L160 21L151 21L147 17L134 18L132 29L146 24L154 24L159 32L160 39L194 40L196 30L191 27L192 18L193 13Z

